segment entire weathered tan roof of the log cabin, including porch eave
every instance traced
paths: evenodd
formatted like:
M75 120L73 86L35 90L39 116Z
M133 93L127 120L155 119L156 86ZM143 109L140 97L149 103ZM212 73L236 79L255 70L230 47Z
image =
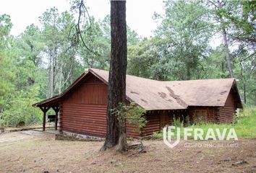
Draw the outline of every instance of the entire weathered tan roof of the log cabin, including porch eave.
M33 106L60 102L65 94L89 74L108 84L108 71L90 68L88 73L82 74L64 93ZM235 79L156 81L127 75L127 99L145 110L182 110L189 106L223 107L231 90L236 93L237 107L242 108Z

